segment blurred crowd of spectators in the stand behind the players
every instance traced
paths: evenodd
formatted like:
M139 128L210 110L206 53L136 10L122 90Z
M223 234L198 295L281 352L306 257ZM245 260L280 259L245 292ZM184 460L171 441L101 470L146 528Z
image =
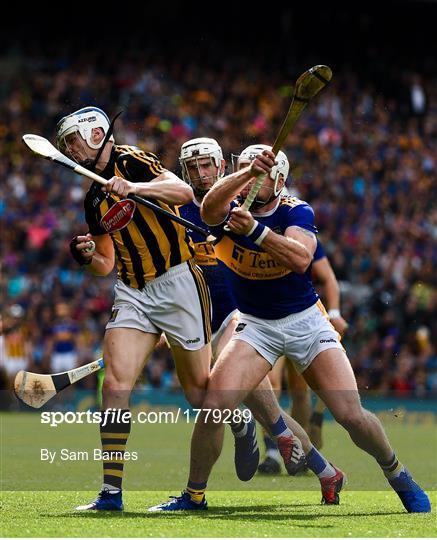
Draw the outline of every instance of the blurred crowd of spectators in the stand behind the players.
M3 385L23 367L53 371L56 353L93 360L115 278L88 275L69 254L70 238L86 232L87 181L31 155L22 134L53 140L61 116L96 105L123 110L116 141L155 152L176 173L181 144L197 136L219 141L231 171L231 153L271 144L288 109L289 78L247 60L244 70L237 61L182 68L177 58L105 63L99 54L0 57ZM376 80L336 73L285 151L289 189L313 206L341 284L360 388L426 397L437 394L437 85L417 74L402 83L387 95ZM172 366L160 348L139 384L174 388Z

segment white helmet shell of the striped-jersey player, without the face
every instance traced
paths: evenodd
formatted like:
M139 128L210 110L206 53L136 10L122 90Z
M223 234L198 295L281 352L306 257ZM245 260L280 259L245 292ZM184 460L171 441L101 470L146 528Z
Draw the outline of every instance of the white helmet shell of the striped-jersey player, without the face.
M66 146L65 137L78 131L90 148L98 150L102 146L104 138L97 144L93 143L91 139L92 129L102 128L106 135L109 125L109 118L102 109L98 107L84 107L59 120L56 126L56 143L58 148L62 150ZM114 141L113 135L111 135L109 140Z

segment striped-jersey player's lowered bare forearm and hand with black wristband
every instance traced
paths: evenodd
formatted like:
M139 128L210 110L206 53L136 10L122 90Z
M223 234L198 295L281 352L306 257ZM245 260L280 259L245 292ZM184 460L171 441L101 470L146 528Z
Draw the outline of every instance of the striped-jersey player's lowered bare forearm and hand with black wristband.
M115 264L114 245L109 234L92 236L86 234L77 237L76 249L80 251L82 259L85 260L87 270L95 276L107 276L112 272ZM90 247L94 242L95 249ZM88 262L90 261L90 262Z

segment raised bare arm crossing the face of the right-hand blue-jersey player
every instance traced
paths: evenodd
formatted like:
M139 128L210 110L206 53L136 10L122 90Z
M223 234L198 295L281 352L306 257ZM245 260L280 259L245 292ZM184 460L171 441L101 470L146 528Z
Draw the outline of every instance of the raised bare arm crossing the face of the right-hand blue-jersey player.
M275 155L264 150L252 163L240 171L225 176L216 182L202 202L201 216L207 225L222 223L229 213L229 204L241 190L260 174L269 174L275 165Z

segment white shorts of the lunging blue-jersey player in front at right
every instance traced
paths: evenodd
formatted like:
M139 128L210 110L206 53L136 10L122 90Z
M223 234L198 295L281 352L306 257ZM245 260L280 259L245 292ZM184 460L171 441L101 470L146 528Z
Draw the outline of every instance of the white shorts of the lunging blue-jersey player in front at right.
M283 319L258 319L240 313L240 322L232 339L252 345L272 366L280 356L286 356L298 373L302 373L322 351L344 351L340 335L329 322L320 300Z

